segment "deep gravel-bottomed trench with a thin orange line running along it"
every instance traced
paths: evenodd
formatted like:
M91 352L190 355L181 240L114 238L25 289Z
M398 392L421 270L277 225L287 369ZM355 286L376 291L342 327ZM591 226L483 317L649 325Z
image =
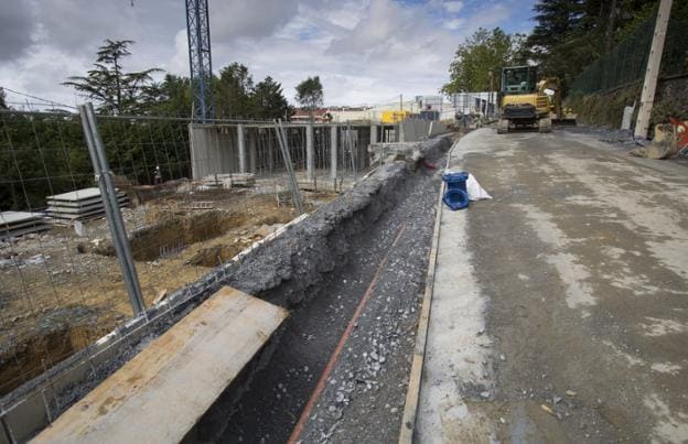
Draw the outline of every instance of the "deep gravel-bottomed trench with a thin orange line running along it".
M437 161L449 145L449 139L429 142L426 160ZM302 432L293 438L302 442L326 441L333 427L337 441L397 438L441 183L438 170L417 166L380 167L307 218L292 236L270 245L277 275L266 274L262 283L241 273L229 279L233 286L290 307L291 314L269 361L255 372L227 420L209 414L195 438L283 443L297 423ZM246 263L243 269L255 274L261 267ZM278 278L282 285L267 292L257 288ZM358 307L353 333L342 339ZM337 343L344 347L332 361ZM314 396L329 365L325 389ZM310 400L310 414L300 418Z

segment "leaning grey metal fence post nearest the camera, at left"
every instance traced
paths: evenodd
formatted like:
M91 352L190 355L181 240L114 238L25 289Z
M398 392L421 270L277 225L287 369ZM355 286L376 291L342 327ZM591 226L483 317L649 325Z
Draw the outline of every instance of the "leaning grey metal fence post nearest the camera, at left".
M129 293L129 301L131 302L131 307L133 308L133 315L146 315L146 303L141 293L139 277L136 271L133 258L131 257L129 238L127 238L125 223L122 220L117 199L117 192L115 189L115 185L112 184L112 172L110 171L110 166L105 155L105 147L103 144L103 140L100 139L100 133L98 132L93 105L80 105L79 115L82 118L82 127L84 129L84 138L86 139L86 144L88 145L88 153L94 165L98 187L100 188L105 215L112 236L112 246L115 247L115 251L117 253L125 285L127 286L127 293Z

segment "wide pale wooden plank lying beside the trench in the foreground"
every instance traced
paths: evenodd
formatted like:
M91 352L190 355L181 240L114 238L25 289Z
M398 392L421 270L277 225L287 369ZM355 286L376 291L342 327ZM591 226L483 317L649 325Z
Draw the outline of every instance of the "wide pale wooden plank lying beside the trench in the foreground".
M180 442L287 315L225 286L32 442Z

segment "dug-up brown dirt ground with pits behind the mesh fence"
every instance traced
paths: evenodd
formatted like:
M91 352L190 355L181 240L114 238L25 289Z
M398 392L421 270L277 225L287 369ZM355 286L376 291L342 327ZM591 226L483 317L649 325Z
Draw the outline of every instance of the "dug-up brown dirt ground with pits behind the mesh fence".
M334 194L307 193L310 208ZM190 209L200 201L213 209ZM147 304L190 283L295 216L273 193L166 195L123 209ZM0 246L0 394L110 332L131 315L104 219L84 236L56 228Z

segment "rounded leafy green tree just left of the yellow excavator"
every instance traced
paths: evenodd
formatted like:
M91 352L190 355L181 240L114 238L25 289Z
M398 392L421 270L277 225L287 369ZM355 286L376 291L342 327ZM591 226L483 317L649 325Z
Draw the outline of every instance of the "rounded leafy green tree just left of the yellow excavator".
M444 94L485 91L490 89L490 72L493 73L493 88L499 85L502 67L523 64L520 34L506 34L502 29L492 31L480 28L463 44L459 45L449 67L449 83L442 86Z

